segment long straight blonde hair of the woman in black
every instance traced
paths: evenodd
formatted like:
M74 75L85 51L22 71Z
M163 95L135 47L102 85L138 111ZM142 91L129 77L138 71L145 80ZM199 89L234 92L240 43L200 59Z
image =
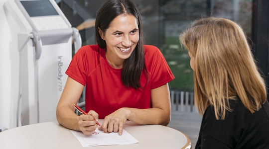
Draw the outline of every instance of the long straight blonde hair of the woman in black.
M195 60L194 102L203 115L213 105L217 119L231 111L229 100L239 98L251 112L266 101L266 85L258 71L246 35L235 22L201 18L180 35Z

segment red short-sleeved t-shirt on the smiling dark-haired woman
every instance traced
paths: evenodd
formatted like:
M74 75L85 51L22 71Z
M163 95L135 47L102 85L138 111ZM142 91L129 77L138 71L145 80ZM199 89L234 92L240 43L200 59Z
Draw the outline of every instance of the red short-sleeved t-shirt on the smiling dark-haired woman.
M81 47L73 57L66 74L86 85L85 108L94 110L99 119L104 119L122 107L151 108L150 90L174 79L163 55L157 47L145 45L145 65L148 72L142 73L142 89L127 88L122 80L122 69L115 69L106 60L105 50L98 45ZM143 71L144 72L144 71Z

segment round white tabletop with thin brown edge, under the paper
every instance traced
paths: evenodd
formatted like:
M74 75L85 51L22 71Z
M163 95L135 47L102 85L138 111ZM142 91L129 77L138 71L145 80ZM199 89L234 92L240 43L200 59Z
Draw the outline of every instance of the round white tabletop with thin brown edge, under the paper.
M102 123L102 120L99 120ZM191 149L180 131L161 125L127 121L124 129L139 142L131 145L82 147L75 136L57 122L13 128L0 133L0 149Z

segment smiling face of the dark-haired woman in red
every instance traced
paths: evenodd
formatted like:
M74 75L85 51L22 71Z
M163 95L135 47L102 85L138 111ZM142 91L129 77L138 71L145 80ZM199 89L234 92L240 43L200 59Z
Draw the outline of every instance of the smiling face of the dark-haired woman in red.
M136 18L121 14L110 23L105 33L99 29L99 34L106 41L106 58L109 64L114 68L122 68L139 40Z

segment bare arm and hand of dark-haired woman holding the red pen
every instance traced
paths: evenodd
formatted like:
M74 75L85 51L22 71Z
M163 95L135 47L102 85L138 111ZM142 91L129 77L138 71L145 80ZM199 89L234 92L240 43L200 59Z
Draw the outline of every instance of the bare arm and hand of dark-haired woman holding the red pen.
M81 131L85 135L90 135L97 128L95 119L98 114L90 111L88 115L78 116L75 113L74 104L77 104L84 89L84 85L71 77L67 77L63 93L56 110L57 121L60 125L75 131Z

